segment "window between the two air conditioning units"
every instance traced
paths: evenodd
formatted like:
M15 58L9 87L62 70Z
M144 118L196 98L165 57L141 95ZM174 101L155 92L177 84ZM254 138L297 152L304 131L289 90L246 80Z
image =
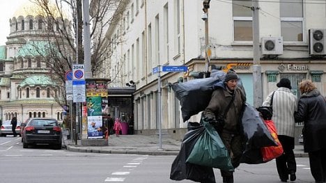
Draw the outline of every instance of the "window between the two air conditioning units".
M281 35L284 41L303 40L302 0L281 0Z

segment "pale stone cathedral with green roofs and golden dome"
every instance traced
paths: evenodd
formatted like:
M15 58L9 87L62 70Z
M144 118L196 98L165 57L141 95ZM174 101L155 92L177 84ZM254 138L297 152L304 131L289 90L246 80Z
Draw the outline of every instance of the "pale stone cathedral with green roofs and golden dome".
M50 72L43 48L44 32L61 24L48 24L39 7L30 1L18 7L10 18L10 34L0 47L0 118L24 122L46 117L63 120L62 84ZM68 19L67 19L68 21Z

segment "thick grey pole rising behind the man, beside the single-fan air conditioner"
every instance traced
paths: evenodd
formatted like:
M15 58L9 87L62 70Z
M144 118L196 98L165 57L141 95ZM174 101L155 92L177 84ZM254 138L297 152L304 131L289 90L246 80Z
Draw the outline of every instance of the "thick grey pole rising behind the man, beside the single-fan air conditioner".
M259 7L258 0L252 1L252 39L254 50L254 65L252 67L252 79L254 87L254 107L263 103L263 90L261 83L261 51L259 49Z

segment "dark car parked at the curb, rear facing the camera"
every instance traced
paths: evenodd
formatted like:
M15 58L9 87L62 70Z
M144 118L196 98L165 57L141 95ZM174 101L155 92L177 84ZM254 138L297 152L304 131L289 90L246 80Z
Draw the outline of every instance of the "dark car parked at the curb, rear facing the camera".
M22 133L23 148L29 145L47 144L61 149L62 130L54 118L30 118Z

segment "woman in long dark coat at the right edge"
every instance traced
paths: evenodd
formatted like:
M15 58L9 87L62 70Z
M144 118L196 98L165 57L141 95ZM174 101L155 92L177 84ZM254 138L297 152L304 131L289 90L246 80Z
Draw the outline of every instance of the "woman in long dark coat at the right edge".
M296 122L304 122L304 152L309 153L311 175L326 182L326 102L311 80L300 83Z

